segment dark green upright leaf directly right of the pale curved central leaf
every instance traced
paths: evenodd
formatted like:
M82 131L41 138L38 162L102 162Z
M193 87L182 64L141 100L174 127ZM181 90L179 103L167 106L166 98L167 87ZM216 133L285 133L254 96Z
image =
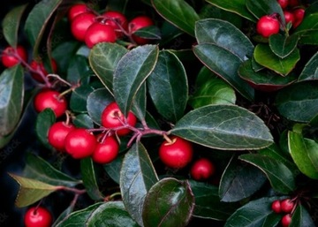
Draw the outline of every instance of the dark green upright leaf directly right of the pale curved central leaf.
M188 99L186 70L178 57L167 50L160 51L147 82L156 110L167 120L178 121L184 115Z

